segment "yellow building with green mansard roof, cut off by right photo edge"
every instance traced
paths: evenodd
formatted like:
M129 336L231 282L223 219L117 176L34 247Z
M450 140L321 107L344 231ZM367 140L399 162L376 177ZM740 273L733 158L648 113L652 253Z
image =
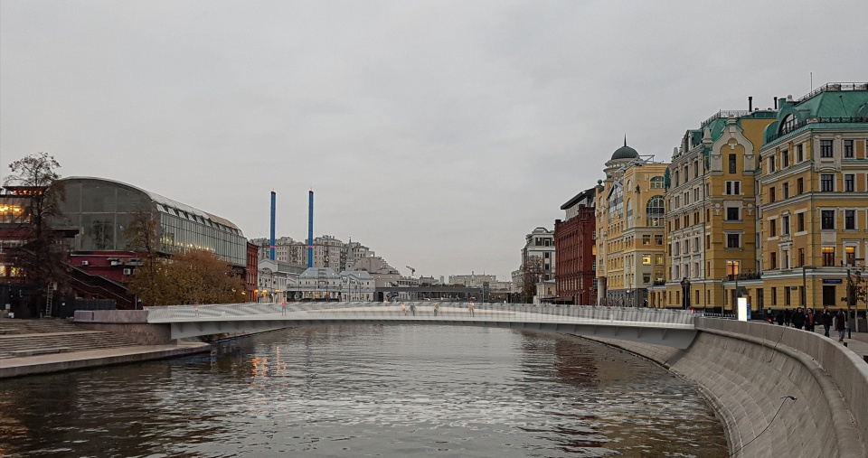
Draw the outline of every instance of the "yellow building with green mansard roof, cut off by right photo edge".
M761 157L761 307L846 306L868 251L868 83L781 101Z

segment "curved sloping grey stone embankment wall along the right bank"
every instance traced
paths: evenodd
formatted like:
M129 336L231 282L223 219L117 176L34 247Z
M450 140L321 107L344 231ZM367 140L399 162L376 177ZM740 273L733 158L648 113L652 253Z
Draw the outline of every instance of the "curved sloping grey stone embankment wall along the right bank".
M852 351L821 334L759 322L697 318L696 328L685 351L590 340L693 381L722 418L733 456L868 456L868 363Z

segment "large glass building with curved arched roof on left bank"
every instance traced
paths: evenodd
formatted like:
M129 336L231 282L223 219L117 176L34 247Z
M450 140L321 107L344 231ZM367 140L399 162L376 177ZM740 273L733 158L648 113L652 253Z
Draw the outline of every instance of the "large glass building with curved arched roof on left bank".
M247 265L247 238L230 220L136 186L103 178L68 177L63 226L80 228L75 251L127 250L124 229L139 211L159 221L157 251L206 249L234 266Z

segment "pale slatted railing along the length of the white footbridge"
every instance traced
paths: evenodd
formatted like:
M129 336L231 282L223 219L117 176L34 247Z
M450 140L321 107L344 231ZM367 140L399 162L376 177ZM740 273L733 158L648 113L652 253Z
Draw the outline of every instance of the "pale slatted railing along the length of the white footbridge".
M434 315L437 304L438 315ZM285 306L278 303L247 303L247 304L212 304L212 305L169 305L146 307L148 322L195 322L195 321L237 321L237 320L267 320L267 319L307 319L322 318L390 318L406 316L417 320L444 320L459 318L462 320L496 320L510 321L510 315L521 314L522 321L533 322L573 322L577 320L607 321L607 322L644 322L660 325L692 325L694 314L682 310L665 310L633 307L608 307L589 305L533 305L533 304L474 304L474 313L470 314L467 303L454 302L405 302L401 303L370 303L370 302L339 302L339 303L288 303ZM415 308L415 313L413 309ZM316 313L314 315L313 313ZM514 317L516 320L518 317Z

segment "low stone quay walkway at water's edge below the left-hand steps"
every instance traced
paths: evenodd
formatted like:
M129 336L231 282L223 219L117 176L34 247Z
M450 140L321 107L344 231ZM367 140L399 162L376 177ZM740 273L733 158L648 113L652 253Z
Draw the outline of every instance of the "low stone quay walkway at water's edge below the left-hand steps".
M866 344L868 345L868 344ZM88 369L111 364L146 360L162 360L178 356L211 351L211 345L202 342L180 342L170 345L138 345L70 353L26 356L0 359L0 379L25 375Z

